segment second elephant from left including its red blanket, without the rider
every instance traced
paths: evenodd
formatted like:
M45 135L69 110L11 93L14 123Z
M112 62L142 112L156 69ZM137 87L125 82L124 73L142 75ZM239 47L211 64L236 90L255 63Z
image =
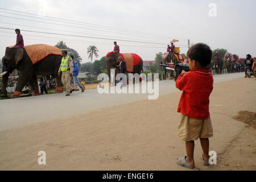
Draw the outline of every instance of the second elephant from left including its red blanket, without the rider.
M135 53L114 53L109 52L106 55L106 69L109 75L110 80L110 71L111 69L115 69L115 76L118 74L118 64L117 59L119 56L122 56L123 61L126 62L127 73L138 73L141 75L143 71L143 60Z

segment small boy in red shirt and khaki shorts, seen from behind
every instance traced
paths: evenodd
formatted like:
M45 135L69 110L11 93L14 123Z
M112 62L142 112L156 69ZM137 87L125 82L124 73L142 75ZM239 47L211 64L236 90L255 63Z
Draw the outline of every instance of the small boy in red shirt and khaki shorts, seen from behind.
M179 138L185 141L187 156L177 159L177 164L195 168L195 140L200 138L203 164L209 166L209 138L213 137L209 113L209 96L213 90L213 76L207 69L212 60L212 50L203 43L195 44L187 53L190 72L183 71L176 87L183 91L178 113L182 114Z

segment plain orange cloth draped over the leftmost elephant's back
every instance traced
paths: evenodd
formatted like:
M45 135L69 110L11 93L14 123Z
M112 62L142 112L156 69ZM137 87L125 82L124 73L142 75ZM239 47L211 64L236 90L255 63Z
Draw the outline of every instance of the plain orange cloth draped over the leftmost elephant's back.
M25 49L33 64L38 63L49 55L61 55L59 48L46 44L24 46L23 49Z

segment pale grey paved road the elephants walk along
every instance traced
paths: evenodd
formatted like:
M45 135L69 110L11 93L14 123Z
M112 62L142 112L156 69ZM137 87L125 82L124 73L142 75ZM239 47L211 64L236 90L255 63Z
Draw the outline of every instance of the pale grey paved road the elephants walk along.
M214 82L240 78L244 73L214 76ZM161 81L159 96L177 92L175 82ZM98 109L147 100L148 94L99 94L97 89L75 92L70 97L53 94L0 101L0 131L85 114ZM99 113L100 114L100 113Z

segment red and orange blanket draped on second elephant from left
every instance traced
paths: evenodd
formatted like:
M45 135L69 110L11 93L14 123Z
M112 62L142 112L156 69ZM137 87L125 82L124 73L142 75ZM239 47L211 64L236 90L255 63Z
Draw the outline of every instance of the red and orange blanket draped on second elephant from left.
M109 52L106 57L108 57L111 53ZM141 57L139 57L135 53L120 53L120 56L122 56L123 60L126 63L127 72L133 73L133 68L135 65L138 65L139 62L141 62Z

